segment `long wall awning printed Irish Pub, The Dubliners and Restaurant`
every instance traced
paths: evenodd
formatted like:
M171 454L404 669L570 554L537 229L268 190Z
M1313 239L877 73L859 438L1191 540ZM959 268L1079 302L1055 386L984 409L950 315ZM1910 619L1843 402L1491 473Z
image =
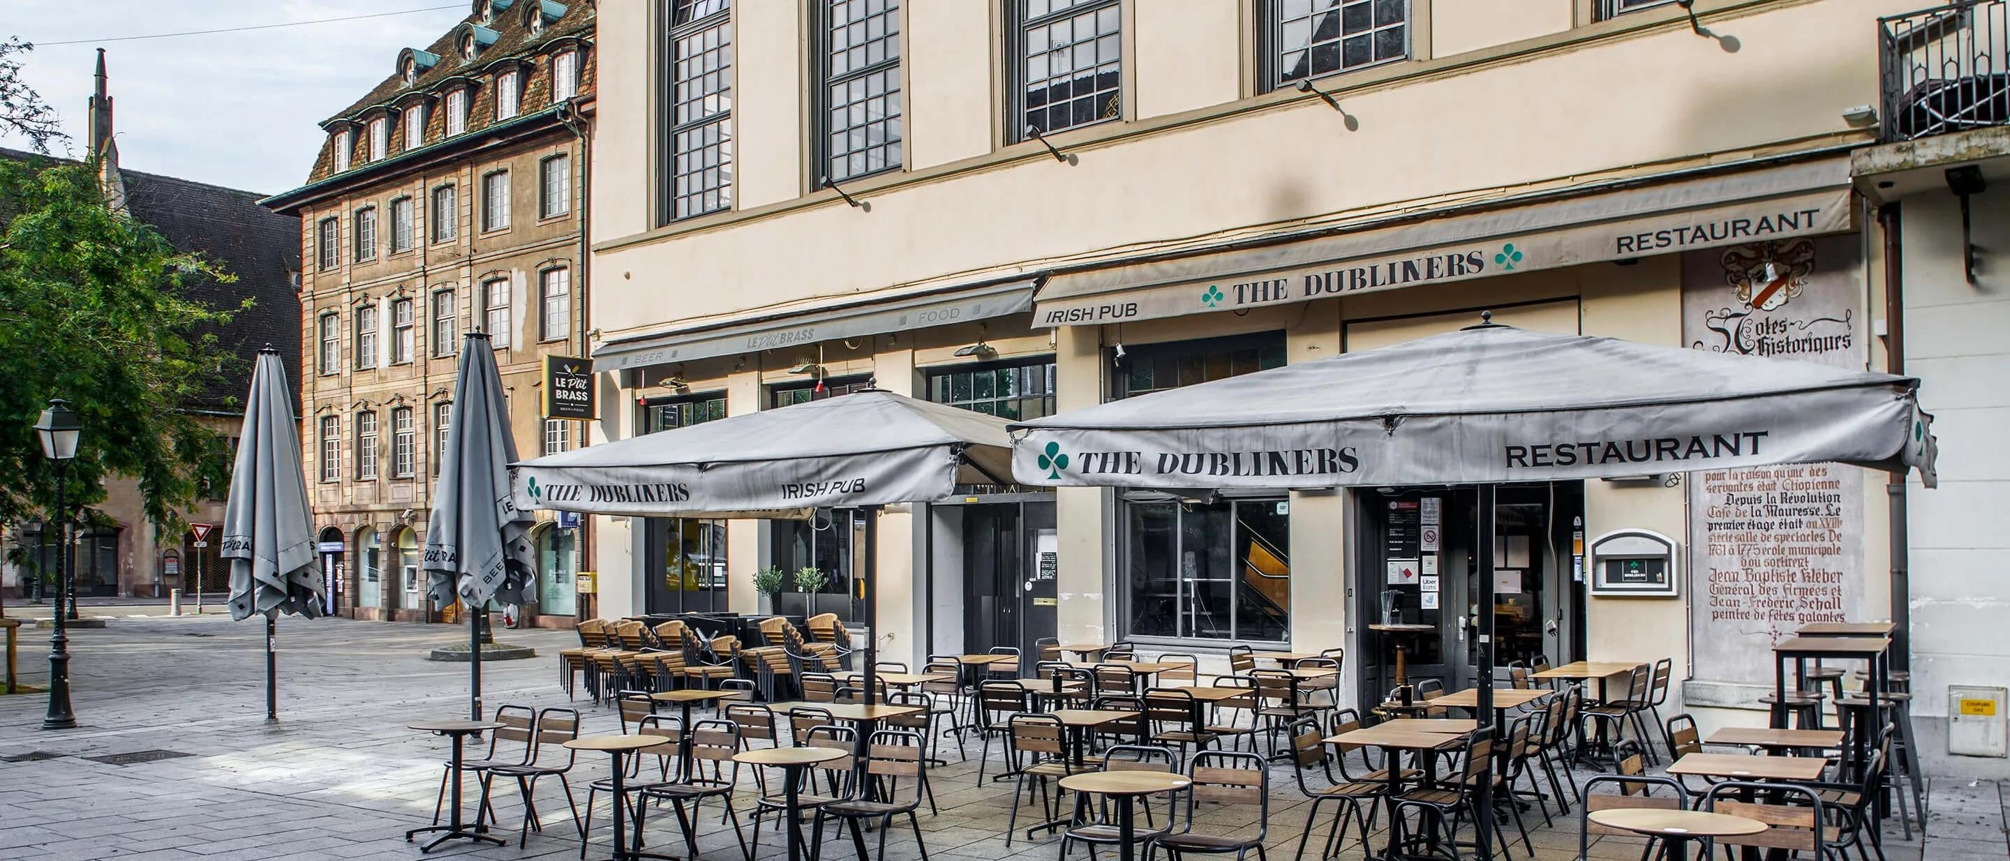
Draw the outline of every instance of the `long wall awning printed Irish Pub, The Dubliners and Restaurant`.
M1493 201L1499 203L1499 201ZM1057 274L1035 326L1095 326L1674 253L1851 227L1849 161L1435 217L1317 239Z

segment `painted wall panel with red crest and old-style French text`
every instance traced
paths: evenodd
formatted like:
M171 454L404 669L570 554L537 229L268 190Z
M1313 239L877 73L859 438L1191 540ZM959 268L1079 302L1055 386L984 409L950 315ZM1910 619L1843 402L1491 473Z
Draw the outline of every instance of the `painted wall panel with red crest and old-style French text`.
M1861 296L1853 237L1690 251L1682 338L1694 350L1861 370ZM1773 664L1755 654L1809 622L1863 618L1863 469L1835 463L1686 477L1698 682L1769 686Z

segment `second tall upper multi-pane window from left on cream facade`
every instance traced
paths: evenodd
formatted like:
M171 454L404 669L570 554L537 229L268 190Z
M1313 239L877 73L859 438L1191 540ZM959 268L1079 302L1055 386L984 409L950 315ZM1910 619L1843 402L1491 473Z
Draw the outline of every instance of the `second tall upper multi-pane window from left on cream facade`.
M900 167L900 4L824 0L824 175Z

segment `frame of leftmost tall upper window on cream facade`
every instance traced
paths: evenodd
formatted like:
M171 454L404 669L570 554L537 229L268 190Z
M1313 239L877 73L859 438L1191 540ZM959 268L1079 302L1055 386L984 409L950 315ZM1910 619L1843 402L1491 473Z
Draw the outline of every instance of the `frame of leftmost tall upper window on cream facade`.
M736 165L736 161L734 161L734 72L736 72L736 68L734 68L736 66L734 52L738 48L738 42L734 40L734 8L732 8L730 0L691 0L693 4L718 2L720 8L714 10L714 12L708 12L703 16L695 16L695 18L683 22L683 24L677 24L675 22L677 2L679 0L669 0L667 2L667 6L669 6L669 14L665 16L667 18L667 26L663 26L663 30L659 34L659 38L663 40L661 56L663 56L663 62L665 62L663 64L663 74L661 74L661 84L663 84L663 99L667 99L667 105L665 105L665 111L663 111L663 129L661 129L661 137L663 137L663 147L661 147L661 151L663 151L663 163L659 165L659 175L661 175L659 185L661 187L657 189L657 193L659 193L659 207L661 207L661 215L657 217L659 223L685 221L685 219L693 219L693 217L706 217L706 215L712 215L712 213L732 211L734 209L734 185L736 185L734 183L734 165ZM695 36L695 34L701 34L701 32L712 30L712 28L720 28L720 32L722 32L722 36L720 36L720 50L728 56L728 60L722 62L722 66L718 68L718 74L724 76L724 84L716 93L712 93L710 99L718 99L726 107L722 111L708 113L703 117L679 123L677 121L677 84L679 84L681 78L677 78L677 42L681 38L685 38L685 36ZM693 103L703 103L706 99L708 97L701 97L701 99L695 99ZM697 133L697 131L701 131L706 127L718 127L718 141L716 143L706 143L699 149L687 149L687 151L677 147L677 137L679 135L691 135L691 133ZM699 189L697 193L691 193L691 195L683 195L681 189L685 187L685 183L681 179L683 177L691 177L691 175L703 175L703 173L708 173L708 167L697 167L693 171L679 173L677 171L677 159L679 159L679 155L683 155L683 153L701 153L703 149L710 149L710 147L718 147L718 151L720 151L718 165L712 167L712 169L716 169L722 175L720 185L712 187L712 189ZM679 205L681 199L685 199L685 197L689 197L689 199L703 199L708 193L718 193L718 205L716 207L710 207L710 209L695 209L693 207L693 209L689 209L689 211L685 211L681 215L677 213L677 205Z

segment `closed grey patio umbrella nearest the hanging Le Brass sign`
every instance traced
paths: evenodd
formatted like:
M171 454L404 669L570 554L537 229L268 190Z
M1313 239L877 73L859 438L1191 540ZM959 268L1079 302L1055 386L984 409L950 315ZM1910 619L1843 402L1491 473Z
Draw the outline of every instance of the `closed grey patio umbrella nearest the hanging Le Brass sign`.
M460 599L468 612L470 720L482 718L482 608L490 599L521 606L537 569L531 547L537 521L511 497L509 463L515 459L494 352L486 334L468 332L432 489L424 567L432 601Z

